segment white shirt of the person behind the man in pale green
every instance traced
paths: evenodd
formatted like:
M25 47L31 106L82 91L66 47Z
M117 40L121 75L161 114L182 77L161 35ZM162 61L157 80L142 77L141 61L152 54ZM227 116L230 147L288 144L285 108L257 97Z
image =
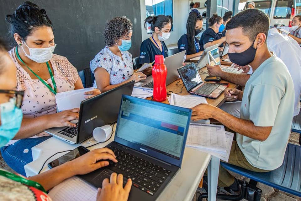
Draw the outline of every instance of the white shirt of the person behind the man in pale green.
M300 111L301 94L301 48L297 41L287 35L280 34L276 28L269 30L267 36L267 47L279 57L288 68L294 83L295 104L294 116ZM252 74L252 68L248 72Z

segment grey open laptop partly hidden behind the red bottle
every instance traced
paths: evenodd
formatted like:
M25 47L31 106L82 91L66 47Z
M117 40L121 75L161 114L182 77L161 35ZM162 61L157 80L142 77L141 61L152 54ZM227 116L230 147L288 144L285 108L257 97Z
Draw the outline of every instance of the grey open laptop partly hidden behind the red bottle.
M167 68L166 86L179 78L177 69L182 66L185 53L186 50L164 59ZM139 85L140 87L154 88L153 76L149 76L145 80L139 82L143 83Z

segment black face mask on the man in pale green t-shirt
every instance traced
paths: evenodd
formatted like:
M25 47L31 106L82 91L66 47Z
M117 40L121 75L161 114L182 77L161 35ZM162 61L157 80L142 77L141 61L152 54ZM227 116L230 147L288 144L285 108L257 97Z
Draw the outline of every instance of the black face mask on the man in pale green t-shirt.
M255 58L256 50L257 50L257 48L255 49L253 47L255 40L253 41L252 45L244 52L228 53L230 61L239 66L246 66L249 63L251 63Z

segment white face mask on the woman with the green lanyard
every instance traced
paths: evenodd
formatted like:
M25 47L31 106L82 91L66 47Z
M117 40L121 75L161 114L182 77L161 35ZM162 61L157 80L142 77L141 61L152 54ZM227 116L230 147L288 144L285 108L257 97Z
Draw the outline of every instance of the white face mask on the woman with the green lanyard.
M24 44L27 46L25 41L24 41ZM23 49L23 46L21 46L21 47ZM31 48L31 47L27 46L30 55L28 55L24 51L24 49L23 49L23 52L25 53L25 56L28 57L29 59L31 59L37 63L44 63L44 62L48 62L51 59L55 47L56 47L56 44L54 46L46 47L46 48Z

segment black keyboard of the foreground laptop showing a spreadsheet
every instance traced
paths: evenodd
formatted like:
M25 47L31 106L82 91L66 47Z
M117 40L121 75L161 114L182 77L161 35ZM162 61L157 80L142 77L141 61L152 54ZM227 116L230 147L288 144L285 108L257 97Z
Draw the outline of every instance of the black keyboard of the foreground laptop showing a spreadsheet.
M141 191L154 195L158 188L165 182L171 171L157 166L151 162L131 155L113 146L109 146L116 155L117 163L111 163L109 169L104 170L108 175L113 172L123 174L124 185L127 179L132 179L133 186Z

